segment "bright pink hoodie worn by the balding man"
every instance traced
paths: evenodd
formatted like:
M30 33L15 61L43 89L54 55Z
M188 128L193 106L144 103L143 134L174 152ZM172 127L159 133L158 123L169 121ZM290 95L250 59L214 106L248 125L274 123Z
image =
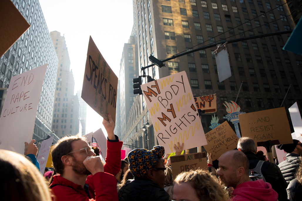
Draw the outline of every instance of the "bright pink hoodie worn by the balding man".
M229 201L276 201L278 193L271 188L270 183L262 179L239 184L233 190L234 197Z

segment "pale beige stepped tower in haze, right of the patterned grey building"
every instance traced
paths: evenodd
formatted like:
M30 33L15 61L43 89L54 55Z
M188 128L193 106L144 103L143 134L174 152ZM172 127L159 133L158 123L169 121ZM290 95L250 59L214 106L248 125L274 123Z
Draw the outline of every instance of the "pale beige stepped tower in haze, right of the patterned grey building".
M74 95L75 81L70 69L70 59L64 35L58 31L50 32L59 60L55 86L52 129L60 138L82 133L80 129L80 103Z

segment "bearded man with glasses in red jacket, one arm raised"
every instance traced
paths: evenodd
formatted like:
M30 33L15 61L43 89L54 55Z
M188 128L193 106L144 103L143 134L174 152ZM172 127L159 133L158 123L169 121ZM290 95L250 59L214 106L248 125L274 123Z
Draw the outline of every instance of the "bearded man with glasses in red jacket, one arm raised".
M109 113L103 125L108 134L104 165L83 137L66 136L54 145L51 155L57 175L50 188L58 201L118 200L113 175L120 171L123 142L113 133L115 124Z

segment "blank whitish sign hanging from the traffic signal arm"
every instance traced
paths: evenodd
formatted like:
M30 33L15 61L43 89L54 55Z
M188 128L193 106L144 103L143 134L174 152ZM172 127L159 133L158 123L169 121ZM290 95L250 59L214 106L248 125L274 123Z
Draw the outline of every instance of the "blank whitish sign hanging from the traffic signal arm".
M229 56L227 54L227 49L224 48L223 50L221 50L215 56L215 59L217 64L219 82L222 82L223 80L231 77L232 73L231 73Z

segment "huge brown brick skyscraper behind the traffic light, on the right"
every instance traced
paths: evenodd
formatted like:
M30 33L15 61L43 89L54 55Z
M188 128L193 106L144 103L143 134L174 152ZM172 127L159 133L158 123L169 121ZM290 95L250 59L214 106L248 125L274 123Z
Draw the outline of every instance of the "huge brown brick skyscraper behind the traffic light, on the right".
M274 0L133 1L132 36L135 53L140 55L135 64L140 67L150 65L150 54L158 59L166 59L210 43L224 43L236 38L292 30L295 24L288 5L284 3ZM280 6L282 4L284 5ZM186 71L194 97L217 94L216 116L220 123L226 115L224 101L236 100L241 83L236 103L243 112L280 107L290 86L282 106L288 109L296 101L302 106L302 84L297 81L302 78L302 58L282 50L289 35L228 44L232 76L223 82L218 81L213 54L215 47L178 57L165 62L166 67L159 69L153 66L145 72L146 75L159 79ZM142 74L140 70L138 73ZM144 146L145 143L140 142L146 140L141 128L143 122L149 120L149 112L143 96L135 100L136 104L133 104L129 116L121 115L121 119L129 119L126 132L122 132L122 140L125 144ZM201 116L204 132L210 130L211 115L213 113ZM149 124L149 148L152 148L158 142L152 122L149 121Z

